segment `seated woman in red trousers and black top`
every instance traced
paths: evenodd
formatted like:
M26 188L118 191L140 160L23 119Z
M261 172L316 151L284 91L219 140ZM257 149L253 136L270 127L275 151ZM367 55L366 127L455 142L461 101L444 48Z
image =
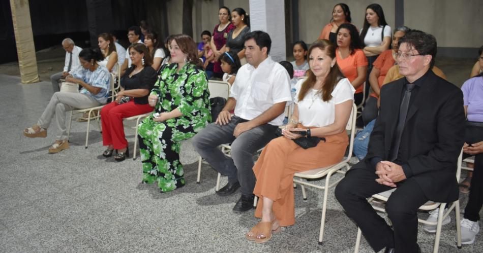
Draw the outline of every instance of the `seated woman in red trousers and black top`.
M156 71L151 67L153 60L149 50L144 44L136 43L128 48L128 52L132 65L120 80L120 91L115 101L101 110L102 142L107 146L102 155L111 157L117 150L116 161L124 161L129 156L123 119L153 111L147 97L156 82Z

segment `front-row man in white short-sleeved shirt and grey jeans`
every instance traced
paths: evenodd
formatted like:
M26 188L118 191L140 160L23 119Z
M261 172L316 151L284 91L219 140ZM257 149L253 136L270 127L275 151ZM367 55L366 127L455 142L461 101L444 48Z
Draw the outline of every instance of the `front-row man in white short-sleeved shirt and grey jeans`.
M215 123L209 124L193 138L196 151L212 167L228 176L228 184L217 194L228 196L241 187L241 197L234 211L253 208L253 155L275 138L282 125L285 103L291 101L287 70L273 61L271 40L263 31L245 35L245 56L249 64L241 66L230 90L230 98ZM234 116L229 112L235 110ZM231 158L217 147L231 144Z

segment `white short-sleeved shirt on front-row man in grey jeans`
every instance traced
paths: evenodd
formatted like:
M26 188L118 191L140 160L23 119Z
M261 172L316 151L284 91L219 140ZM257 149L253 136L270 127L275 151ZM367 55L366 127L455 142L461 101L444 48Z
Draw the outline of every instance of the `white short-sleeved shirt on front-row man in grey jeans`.
M282 65L268 56L257 68L245 64L238 69L230 97L236 99L235 116L252 120L272 105L292 100L290 77ZM283 119L282 113L268 124L280 126Z

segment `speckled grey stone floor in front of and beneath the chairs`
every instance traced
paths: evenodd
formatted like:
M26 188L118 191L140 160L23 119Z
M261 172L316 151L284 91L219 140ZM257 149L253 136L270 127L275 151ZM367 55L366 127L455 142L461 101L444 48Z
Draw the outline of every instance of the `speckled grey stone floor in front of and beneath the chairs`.
M22 85L0 74L0 252L353 252L357 228L334 191L329 192L323 245L317 243L323 192L295 189L296 224L265 244L245 239L257 223L253 211L233 213L239 197L215 194L216 173L202 166L185 143L187 185L170 193L140 184L140 161L104 159L99 129L93 125L84 149L86 123L74 122L70 149L48 154L56 124L47 138L30 139L22 129L34 124L52 95L51 84ZM130 148L134 130L127 128ZM222 185L226 178L222 177ZM323 180L319 182L323 184ZM461 196L461 206L467 195ZM420 213L422 218L427 213ZM481 234L473 245L456 248L455 219L443 227L440 252L483 252ZM423 252L432 252L434 234L419 226ZM362 240L360 252L372 252Z

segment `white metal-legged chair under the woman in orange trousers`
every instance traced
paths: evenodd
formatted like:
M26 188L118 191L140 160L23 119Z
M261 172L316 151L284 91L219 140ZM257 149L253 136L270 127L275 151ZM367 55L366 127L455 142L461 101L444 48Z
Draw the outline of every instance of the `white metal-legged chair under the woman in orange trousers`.
M349 117L349 120L346 125L346 130L350 131L350 138L349 138L349 153L348 156L343 158L343 160L337 164L330 165L327 167L323 168L317 168L317 169L312 169L304 172L298 172L295 173L293 176L293 182L294 184L300 184L302 188L302 195L304 197L304 200L307 199L307 194L305 192L305 186L310 186L310 187L315 187L317 189L324 190L324 198L322 202L322 218L320 220L320 233L319 233L319 244L322 244L323 236L324 236L324 225L325 225L325 212L327 209L327 196L328 196L328 190L331 187L334 187L337 185L337 183L342 180L343 177L340 179L336 180L335 182L330 183L330 177L334 173L341 173L345 174L347 170L349 170L350 165L349 165L349 160L352 156L352 149L354 147L354 136L355 136L355 119L356 119L356 113L357 113L357 107L355 104L352 104L352 112ZM346 168L346 170L343 170L343 168ZM313 179L313 178L321 178L325 176L325 185L320 186L320 185L315 185L312 183L307 182L307 180L301 180L297 178L304 178L304 179Z

